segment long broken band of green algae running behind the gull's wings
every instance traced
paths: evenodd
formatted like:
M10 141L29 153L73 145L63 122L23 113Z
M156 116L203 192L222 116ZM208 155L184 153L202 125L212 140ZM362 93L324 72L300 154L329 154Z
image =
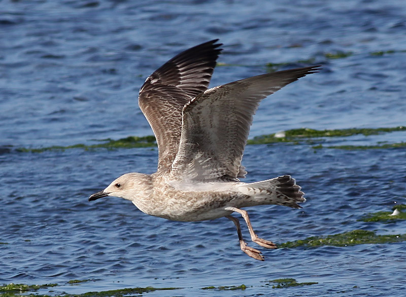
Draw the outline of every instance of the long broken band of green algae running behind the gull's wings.
M315 130L310 128L300 128L300 129L291 129L286 131L281 131L279 133L262 135L254 137L247 141L248 145L251 144L272 144L272 143L299 143L300 141L314 140L320 138L331 138L331 137L349 137L353 135L378 135L384 133L390 133L395 131L406 131L406 128L403 126L398 127L389 127L389 128L350 128L350 129L332 129L332 130ZM70 146L51 146L45 148L17 148L19 152L33 152L40 153L49 150L66 150L81 148L84 150L92 150L98 148L107 148L107 149L118 149L118 148L138 148L138 147L155 147L156 140L154 136L144 136L136 137L129 136L126 138L121 138L119 140L100 140L104 141L97 144L85 145L85 144L75 144ZM382 146L364 146L364 147L352 147L352 146L334 146L327 148L390 148L390 147L403 147L406 146L406 143L400 144L386 144ZM314 146L313 148L323 148L322 145Z

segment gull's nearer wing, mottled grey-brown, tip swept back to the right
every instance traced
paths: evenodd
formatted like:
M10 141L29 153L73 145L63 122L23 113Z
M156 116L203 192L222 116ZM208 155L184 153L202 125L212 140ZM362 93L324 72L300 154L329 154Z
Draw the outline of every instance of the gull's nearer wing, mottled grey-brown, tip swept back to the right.
M260 101L318 66L268 73L214 87L183 108L182 135L172 166L183 179L241 177L241 159Z

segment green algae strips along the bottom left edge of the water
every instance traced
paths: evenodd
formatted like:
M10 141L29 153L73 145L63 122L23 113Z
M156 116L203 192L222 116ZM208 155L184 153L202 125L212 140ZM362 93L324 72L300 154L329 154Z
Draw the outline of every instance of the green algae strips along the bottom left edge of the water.
M76 281L76 280L74 280ZM81 281L80 281L81 282ZM68 282L69 283L69 282ZM0 296L1 297L21 297L25 296L25 292L28 291L37 291L38 289L46 289L49 287L57 286L58 284L45 284L45 285L26 285L26 284L13 284L10 283L8 285L4 285L0 287ZM117 290L109 290L109 291L92 291L86 292L82 294L52 294L53 296L60 296L60 297L124 297L132 294L143 294L153 291L162 291L162 290L176 290L180 288L154 288L154 287L136 287L136 288L124 288L124 289L117 289ZM44 294L29 294L29 296L36 296L36 297L47 297L48 295Z

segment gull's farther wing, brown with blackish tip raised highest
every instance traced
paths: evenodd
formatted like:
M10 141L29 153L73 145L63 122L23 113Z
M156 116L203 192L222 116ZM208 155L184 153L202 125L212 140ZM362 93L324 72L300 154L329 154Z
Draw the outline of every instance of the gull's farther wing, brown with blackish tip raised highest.
M178 152L183 107L209 86L221 51L217 41L181 52L151 74L140 89L138 103L158 144L158 171L169 170Z

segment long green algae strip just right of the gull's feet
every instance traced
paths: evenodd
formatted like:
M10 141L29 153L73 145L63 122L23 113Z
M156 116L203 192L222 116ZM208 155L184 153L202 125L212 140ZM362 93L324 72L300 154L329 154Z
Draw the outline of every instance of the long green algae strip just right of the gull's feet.
M353 230L328 236L312 236L307 239L288 241L279 244L280 248L319 247L319 246L350 246L358 244L383 244L406 241L406 234L376 235L367 230Z

